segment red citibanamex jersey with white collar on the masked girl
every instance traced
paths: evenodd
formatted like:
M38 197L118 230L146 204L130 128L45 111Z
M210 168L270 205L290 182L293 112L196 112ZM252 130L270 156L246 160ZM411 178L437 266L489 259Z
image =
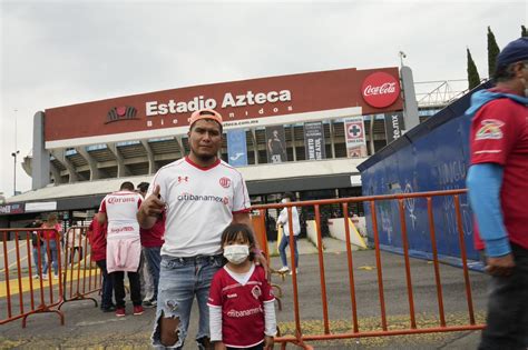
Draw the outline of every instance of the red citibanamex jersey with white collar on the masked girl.
M264 340L264 303L275 297L262 267L252 264L248 276L241 283L224 267L211 284L207 304L222 308L222 341L227 347L250 348Z

